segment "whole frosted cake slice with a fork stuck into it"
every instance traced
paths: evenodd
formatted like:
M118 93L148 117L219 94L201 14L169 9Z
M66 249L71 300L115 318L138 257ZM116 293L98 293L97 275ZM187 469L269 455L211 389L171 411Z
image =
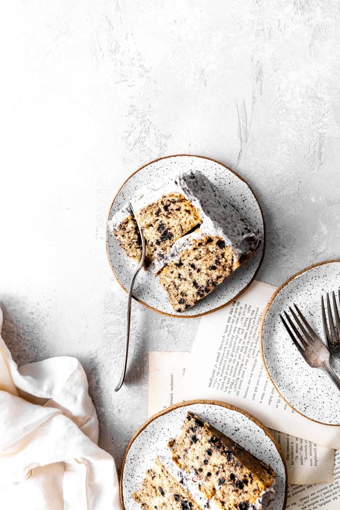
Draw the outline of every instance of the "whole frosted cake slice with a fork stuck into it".
M261 241L224 193L198 171L144 190L130 202L145 237L146 266L160 275L176 312L211 293ZM130 209L118 211L109 227L127 256L139 260L141 240Z

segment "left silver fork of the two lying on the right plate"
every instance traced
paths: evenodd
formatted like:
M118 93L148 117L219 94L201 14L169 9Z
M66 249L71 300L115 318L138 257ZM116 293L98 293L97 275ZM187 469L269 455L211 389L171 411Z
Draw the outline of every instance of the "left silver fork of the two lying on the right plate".
M320 340L316 332L312 329L312 327L308 324L300 310L298 309L297 305L294 304L294 307L301 319L296 315L294 310L289 307L289 310L299 326L302 335L299 331L299 329L296 327L290 316L284 312L284 315L286 317L287 322L284 320L282 315L280 314L281 320L288 331L291 339L293 340L295 346L297 347L298 351L300 352L302 358L305 360L306 363L312 368L320 368L326 374L332 379L337 389L340 391L340 379L336 375L336 373L333 371L329 364L329 350L327 347L323 344L323 342ZM303 323L303 324L302 324ZM291 326L291 327L289 327ZM293 330L293 333L292 333ZM294 335L295 334L295 335Z

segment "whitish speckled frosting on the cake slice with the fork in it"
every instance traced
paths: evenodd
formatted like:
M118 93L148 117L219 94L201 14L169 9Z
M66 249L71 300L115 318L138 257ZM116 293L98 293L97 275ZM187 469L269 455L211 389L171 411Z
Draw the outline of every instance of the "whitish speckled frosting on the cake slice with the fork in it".
M202 236L222 238L233 252L235 267L257 248L261 241L259 233L252 231L240 212L199 171L182 173L158 189L145 188L130 198L130 203L134 210L139 212L171 192L181 193L187 198L198 210L202 223L197 230L178 239L168 253L162 250L155 253L155 261L150 266L155 273L171 260L176 261L181 250ZM119 210L109 222L110 230L115 230L129 214L131 214L129 206Z

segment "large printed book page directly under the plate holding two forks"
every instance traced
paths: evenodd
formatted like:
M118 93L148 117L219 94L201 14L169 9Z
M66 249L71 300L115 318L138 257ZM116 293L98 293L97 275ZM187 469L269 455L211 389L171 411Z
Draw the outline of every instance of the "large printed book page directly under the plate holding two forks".
M340 449L340 426L322 425L294 412L264 368L258 326L274 291L271 285L253 282L236 301L201 317L181 398L222 400L267 427Z

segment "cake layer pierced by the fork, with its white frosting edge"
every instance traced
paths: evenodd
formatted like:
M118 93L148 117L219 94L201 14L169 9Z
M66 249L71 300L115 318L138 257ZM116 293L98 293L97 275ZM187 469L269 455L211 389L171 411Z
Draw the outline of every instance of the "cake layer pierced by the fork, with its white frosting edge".
M169 186L171 190L171 186ZM146 267L155 259L162 259L170 246L180 237L197 227L201 218L192 203L181 193L169 189L145 192L133 198L132 204L142 228L146 244ZM150 202L150 203L146 203ZM113 235L128 257L139 261L141 239L134 216L128 208L119 211L111 221Z

